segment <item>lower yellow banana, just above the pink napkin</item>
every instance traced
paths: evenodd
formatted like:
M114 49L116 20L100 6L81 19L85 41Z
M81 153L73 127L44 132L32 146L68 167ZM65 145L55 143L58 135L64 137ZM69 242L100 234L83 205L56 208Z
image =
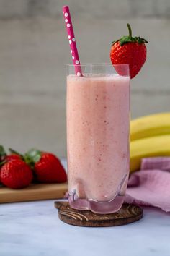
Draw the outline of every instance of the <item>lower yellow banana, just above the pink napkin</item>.
M130 142L130 172L140 169L141 158L170 156L170 135L147 137Z

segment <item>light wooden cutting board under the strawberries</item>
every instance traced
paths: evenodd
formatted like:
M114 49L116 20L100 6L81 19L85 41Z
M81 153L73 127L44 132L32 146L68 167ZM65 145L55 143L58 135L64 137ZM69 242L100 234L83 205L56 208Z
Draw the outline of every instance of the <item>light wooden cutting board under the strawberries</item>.
M66 192L67 183L31 184L25 189L0 187L0 203L58 199L63 198Z

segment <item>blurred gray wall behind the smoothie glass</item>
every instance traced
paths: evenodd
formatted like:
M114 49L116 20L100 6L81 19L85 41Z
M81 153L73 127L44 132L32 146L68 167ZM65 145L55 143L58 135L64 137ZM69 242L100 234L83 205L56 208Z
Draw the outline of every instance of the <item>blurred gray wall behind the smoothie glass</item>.
M61 7L68 4L83 62L109 62L112 40L149 40L132 80L132 117L170 110L169 0L0 0L0 137L66 156L66 69L71 56Z

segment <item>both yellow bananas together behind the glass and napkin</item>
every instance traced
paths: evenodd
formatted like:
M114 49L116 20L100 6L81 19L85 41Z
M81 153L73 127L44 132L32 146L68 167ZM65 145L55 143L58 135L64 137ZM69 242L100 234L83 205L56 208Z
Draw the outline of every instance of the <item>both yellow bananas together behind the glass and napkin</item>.
M141 158L170 155L170 113L153 114L130 123L130 172Z

